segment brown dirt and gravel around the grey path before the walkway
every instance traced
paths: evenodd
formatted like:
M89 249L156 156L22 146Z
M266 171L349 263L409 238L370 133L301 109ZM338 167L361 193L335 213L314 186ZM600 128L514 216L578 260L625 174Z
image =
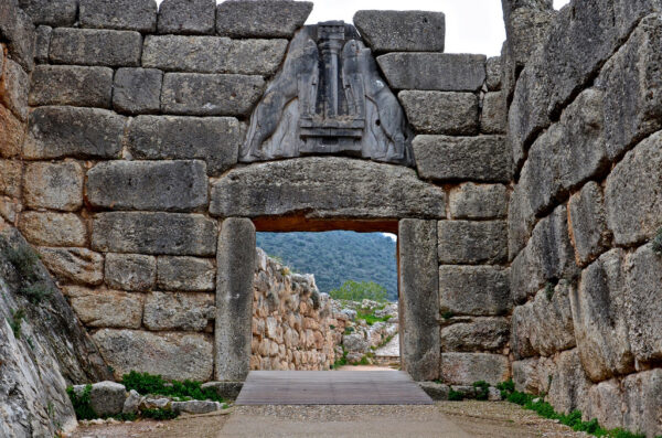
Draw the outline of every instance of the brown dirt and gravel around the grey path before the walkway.
M348 415L346 420L356 420L365 418L366 415L378 419L380 417L393 420L393 406L352 406L353 414ZM404 408L404 407L403 407ZM431 408L431 412L428 410ZM329 416L335 416L335 410L348 409L348 407L329 406L308 406L308 407L287 407L278 409L276 413L267 413L270 407L241 407L243 414L253 414L256 416L288 416L288 413L296 413L297 420L305 419L310 425L311 421L329 420ZM524 410L520 406L506 403L490 402L437 402L434 407L407 407L412 410L408 415L415 414L417 409L425 409L426 417L439 414L446 419L452 421L470 437L490 437L490 438L575 438L587 437L584 432L575 432L570 428L559 425L553 420L538 417L535 413ZM135 421L119 425L99 425L82 426L73 435L73 438L218 438L223 434L223 427L232 416L234 409L227 409L221 414L206 414L199 416L180 417L170 421ZM383 413L382 413L383 410ZM420 413L423 414L423 412ZM303 417L308 418L303 418ZM360 429L360 428L359 428ZM381 431L382 436L388 436ZM309 435L310 436L310 435ZM337 435L343 436L343 435ZM351 437L353 435L346 435Z

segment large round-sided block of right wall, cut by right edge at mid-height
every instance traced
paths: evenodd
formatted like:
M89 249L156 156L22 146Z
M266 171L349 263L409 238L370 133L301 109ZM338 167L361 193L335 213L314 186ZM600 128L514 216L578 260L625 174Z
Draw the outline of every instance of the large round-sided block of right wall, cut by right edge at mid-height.
M662 132L639 143L607 177L605 209L615 244L642 243L662 226L660 181Z

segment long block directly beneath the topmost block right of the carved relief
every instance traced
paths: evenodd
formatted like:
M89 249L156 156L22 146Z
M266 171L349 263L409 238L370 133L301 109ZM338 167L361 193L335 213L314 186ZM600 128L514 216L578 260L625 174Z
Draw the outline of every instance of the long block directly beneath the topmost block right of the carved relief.
M392 29L388 32L394 35ZM394 89L478 92L485 82L484 55L388 53L378 56L377 63Z

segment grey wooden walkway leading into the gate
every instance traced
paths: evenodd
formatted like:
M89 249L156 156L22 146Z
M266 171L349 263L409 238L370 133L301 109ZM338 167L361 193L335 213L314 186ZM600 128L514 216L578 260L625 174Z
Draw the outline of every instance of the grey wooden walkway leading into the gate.
M402 371L252 371L236 405L431 405Z

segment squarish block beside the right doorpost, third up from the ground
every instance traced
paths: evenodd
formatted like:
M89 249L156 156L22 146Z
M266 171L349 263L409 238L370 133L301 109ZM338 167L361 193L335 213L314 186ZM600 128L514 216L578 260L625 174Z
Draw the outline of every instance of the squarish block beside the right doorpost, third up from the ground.
M511 308L508 269L494 266L440 266L442 313L492 316Z

